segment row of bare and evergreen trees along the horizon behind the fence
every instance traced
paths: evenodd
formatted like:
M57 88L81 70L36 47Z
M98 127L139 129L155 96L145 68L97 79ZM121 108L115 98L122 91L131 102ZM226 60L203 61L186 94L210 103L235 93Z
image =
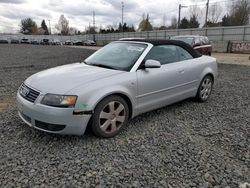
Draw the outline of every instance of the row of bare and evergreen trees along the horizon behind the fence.
M207 27L218 27L218 26L242 26L249 24L250 21L250 1L249 0L238 0L230 3L228 12L222 16L222 7L219 3L214 3L209 7ZM199 19L202 16L202 10L198 6L191 6L191 14L189 17L183 17L178 21L176 17L171 19L171 24L166 25L166 16L163 16L163 24L159 27L154 27L149 14L143 14L139 22L137 31L152 31L152 30L166 30L166 29L187 29L187 28L198 28L205 27L201 26ZM222 19L220 19L222 17ZM20 32L23 34L42 34L48 35L50 31L46 25L45 20L42 20L41 26L38 27L36 22L31 18L21 20ZM99 31L96 27L89 26L85 31L81 32L76 28L69 27L69 21L64 15L61 15L58 23L55 25L58 34L61 35L76 35L76 34L95 34L95 33L118 33L118 32L135 32L136 29L133 25L127 23L119 23L118 26L108 25L106 28L100 26Z

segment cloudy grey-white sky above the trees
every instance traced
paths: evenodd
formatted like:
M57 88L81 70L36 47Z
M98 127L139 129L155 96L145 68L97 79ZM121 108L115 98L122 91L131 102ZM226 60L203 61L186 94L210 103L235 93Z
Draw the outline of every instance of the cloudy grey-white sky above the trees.
M96 26L105 28L107 25L117 25L121 22L122 0L0 0L0 33L16 33L19 31L21 19L30 17L40 26L45 19L52 32L56 32L55 24L61 14L69 20L70 27L84 31L92 24L92 14L96 14ZM178 16L178 5L190 7L182 10L182 17L189 16L192 5L200 8L200 22L204 22L206 0L123 0L124 21L138 26L143 13L149 13L154 26L171 22L173 16ZM211 5L219 2L225 9L225 0L210 0ZM225 11L225 10L223 10Z

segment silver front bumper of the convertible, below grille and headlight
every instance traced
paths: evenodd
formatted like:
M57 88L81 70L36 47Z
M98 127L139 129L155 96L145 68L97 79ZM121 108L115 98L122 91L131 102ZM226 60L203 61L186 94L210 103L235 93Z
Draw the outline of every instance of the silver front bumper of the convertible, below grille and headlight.
M36 100L40 101L41 97ZM56 108L24 99L18 92L17 108L20 118L30 127L44 132L82 135L91 115L73 115L73 108Z

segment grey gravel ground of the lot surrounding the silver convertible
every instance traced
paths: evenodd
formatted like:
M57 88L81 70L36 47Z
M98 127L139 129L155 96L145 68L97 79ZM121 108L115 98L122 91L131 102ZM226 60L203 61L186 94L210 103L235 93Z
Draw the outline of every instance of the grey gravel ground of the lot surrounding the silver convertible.
M249 66L220 64L207 103L186 100L140 115L115 138L52 135L22 123L15 107L20 83L92 52L0 45L0 187L234 188L250 182Z

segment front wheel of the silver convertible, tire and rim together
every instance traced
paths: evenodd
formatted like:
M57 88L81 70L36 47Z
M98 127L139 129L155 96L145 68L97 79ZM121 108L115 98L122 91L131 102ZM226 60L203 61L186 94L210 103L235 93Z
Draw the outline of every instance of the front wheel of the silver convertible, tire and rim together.
M95 108L91 128L98 137L111 138L127 124L129 108L126 101L116 95L104 98Z

